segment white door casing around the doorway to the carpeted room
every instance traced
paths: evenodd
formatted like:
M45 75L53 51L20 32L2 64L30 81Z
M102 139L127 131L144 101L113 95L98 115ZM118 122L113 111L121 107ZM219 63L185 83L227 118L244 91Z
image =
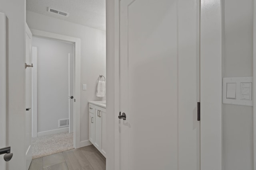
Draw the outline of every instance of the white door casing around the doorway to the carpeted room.
M66 41L74 43L74 148L80 148L80 39L75 37L69 37L66 35L60 35L56 33L50 33L37 29L30 29L33 36L43 37L48 39L54 39L58 41ZM33 99L33 102L34 99ZM34 114L37 114L33 112ZM35 115L37 116L37 115ZM33 119L33 125L37 125L37 119ZM33 132L34 133L34 132Z

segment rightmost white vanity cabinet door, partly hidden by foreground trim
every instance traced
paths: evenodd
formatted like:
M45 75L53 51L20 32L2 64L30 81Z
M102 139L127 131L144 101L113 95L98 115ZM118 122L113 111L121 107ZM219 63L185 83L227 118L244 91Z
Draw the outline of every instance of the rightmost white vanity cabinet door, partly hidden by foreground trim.
M107 139L106 139L106 137L107 137L107 131L106 131L106 109L102 109L101 111L100 111L100 116L101 116L101 121L102 121L102 123L101 123L101 125L102 125L102 127L101 127L101 130L102 130L102 135L101 135L101 137L102 137L102 143L101 143L101 150L100 150L100 152L103 154L103 156L105 156L106 157L106 141L107 141Z

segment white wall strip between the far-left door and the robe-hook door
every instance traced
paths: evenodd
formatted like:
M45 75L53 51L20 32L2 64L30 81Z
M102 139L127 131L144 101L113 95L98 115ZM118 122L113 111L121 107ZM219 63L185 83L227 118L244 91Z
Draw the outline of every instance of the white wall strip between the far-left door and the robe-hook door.
M8 145L14 153L9 170L24 170L25 159L25 0L1 0L0 12L8 23Z

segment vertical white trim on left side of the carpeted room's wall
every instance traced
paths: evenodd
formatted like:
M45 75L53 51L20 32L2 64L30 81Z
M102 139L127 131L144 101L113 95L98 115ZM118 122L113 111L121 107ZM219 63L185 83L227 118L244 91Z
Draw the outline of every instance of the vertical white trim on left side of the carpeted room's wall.
M37 47L32 47L32 137L37 137Z

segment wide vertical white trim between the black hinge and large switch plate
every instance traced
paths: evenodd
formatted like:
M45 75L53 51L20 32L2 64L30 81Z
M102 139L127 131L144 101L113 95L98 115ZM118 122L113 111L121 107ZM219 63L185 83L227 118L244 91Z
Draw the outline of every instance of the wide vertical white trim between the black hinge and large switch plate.
M222 5L201 0L200 168L222 169Z

